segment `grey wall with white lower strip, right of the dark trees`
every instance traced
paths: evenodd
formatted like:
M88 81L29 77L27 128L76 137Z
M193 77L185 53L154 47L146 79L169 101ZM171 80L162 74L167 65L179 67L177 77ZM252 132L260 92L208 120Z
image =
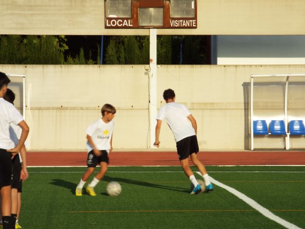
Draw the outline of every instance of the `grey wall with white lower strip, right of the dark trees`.
M217 64L305 64L305 36L217 36Z

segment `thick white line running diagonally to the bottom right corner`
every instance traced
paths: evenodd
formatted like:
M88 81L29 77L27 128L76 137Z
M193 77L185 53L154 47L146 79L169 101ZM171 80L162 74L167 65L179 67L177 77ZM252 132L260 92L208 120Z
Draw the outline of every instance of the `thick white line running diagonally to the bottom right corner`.
M201 173L199 171L196 172L197 174L199 174L201 176ZM239 199L245 201L247 204L249 204L251 207L253 207L254 209L256 209L256 211L258 211L260 214L262 214L263 216L279 223L280 225L289 228L289 229L301 229L300 227L274 215L272 212L270 212L267 208L261 206L260 204L258 204L257 202L255 202L253 199L247 197L245 194L242 194L240 192L238 192L236 189L225 185L215 179L213 179L212 177L210 177L210 180L213 184L216 184L219 187L222 187L224 189L226 189L228 192L232 193L233 195L235 195L236 197L238 197Z

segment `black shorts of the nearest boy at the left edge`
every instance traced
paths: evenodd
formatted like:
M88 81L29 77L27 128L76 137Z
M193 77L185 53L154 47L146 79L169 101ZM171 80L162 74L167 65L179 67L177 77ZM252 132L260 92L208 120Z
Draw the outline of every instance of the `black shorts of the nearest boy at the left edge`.
M12 183L12 154L0 149L0 188Z

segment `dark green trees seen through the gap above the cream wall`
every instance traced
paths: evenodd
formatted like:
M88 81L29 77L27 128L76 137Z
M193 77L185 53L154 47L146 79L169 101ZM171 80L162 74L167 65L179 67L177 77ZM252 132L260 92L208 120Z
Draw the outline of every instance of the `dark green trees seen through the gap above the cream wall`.
M149 36L0 35L0 64L149 64ZM158 35L157 64L206 64L207 36ZM92 59L92 56L96 60Z

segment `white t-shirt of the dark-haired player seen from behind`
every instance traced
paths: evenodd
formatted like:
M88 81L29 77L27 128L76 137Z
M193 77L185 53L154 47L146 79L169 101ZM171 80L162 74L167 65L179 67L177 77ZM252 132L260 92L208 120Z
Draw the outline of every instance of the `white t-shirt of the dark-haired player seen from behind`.
M196 135L188 116L191 114L189 109L180 103L167 103L160 107L157 120L166 120L174 133L176 142L187 137Z

